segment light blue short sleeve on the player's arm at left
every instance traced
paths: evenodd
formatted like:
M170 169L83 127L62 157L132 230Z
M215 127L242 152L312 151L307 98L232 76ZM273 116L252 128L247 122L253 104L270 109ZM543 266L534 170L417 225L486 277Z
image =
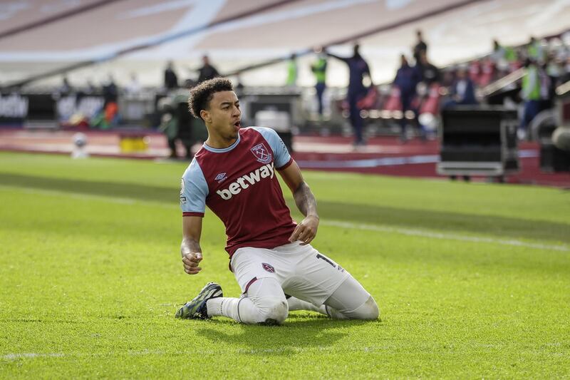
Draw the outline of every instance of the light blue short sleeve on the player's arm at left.
M206 210L206 197L208 184L202 173L202 168L196 159L182 175L180 183L180 208L183 216L204 216Z

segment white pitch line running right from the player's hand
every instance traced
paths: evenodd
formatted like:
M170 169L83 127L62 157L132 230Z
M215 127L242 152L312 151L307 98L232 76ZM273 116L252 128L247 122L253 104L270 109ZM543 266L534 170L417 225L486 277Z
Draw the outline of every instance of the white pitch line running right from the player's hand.
M395 233L395 234L408 235L408 236L429 237L431 239L460 240L462 242L484 242L484 243L492 243L499 245L512 245L516 247L536 248L538 250L556 250L563 252L570 251L570 247L567 247L566 245L546 245L539 243L523 242L522 240L514 240L514 239L505 240L505 239L494 239L492 237L456 235L456 234L448 234L448 233L426 231L426 230L413 230L410 228L341 222L340 220L323 220L321 224L331 225L334 227L351 228L353 230L368 230L368 231Z

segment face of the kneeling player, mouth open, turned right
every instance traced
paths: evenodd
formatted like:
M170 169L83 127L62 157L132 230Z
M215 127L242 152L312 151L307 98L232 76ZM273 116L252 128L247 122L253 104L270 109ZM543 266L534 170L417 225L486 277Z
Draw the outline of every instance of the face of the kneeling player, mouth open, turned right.
M239 109L239 101L234 91L214 93L204 118L211 127L210 133L215 133L218 138L227 142L233 142L237 139L237 131L241 128L241 119L242 111Z

